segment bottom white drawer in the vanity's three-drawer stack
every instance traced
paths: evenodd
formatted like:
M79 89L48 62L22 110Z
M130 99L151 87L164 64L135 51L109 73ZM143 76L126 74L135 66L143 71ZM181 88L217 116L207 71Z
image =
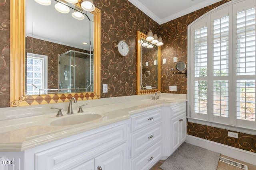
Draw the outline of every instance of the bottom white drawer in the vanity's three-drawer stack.
M158 141L152 147L132 159L132 170L148 170L161 158L161 143Z

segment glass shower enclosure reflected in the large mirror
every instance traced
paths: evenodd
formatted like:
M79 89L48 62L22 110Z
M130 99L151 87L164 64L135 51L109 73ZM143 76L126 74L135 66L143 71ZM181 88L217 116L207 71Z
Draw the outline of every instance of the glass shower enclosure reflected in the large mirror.
M58 56L58 89L60 93L93 91L93 56L67 51Z

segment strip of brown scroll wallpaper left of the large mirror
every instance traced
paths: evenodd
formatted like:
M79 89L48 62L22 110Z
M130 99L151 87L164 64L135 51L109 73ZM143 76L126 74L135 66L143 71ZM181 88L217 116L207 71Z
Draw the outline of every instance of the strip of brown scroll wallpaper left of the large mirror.
M0 107L10 106L10 1L0 0Z

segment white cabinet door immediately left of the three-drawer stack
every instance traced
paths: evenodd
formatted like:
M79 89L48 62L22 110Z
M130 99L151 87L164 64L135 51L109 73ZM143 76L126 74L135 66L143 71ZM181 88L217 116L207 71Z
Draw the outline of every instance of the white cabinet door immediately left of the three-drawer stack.
M95 170L126 170L126 143L95 158Z

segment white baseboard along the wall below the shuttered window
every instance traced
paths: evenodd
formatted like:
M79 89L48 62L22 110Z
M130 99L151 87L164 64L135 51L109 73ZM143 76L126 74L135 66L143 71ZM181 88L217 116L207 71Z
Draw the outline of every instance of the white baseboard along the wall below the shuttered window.
M228 145L201 139L192 135L187 135L185 142L196 145L198 147L202 147L204 149L212 150L214 152L219 152L220 154L242 160L243 162L248 162L249 164L256 165L256 153L254 152L230 147Z

